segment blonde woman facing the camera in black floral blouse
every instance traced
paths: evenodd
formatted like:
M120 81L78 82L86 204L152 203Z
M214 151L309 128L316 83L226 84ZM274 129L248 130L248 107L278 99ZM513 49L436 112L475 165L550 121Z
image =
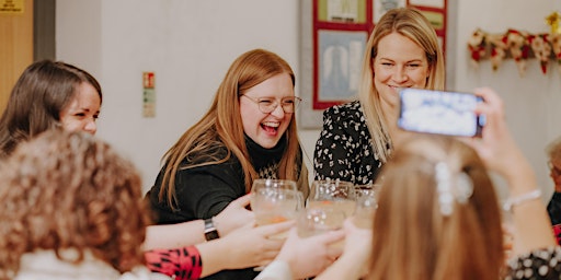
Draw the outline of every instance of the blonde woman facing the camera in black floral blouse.
M443 90L444 82L444 57L431 23L414 9L388 11L366 45L358 100L323 113L316 179L373 183L407 136L397 126L398 89Z

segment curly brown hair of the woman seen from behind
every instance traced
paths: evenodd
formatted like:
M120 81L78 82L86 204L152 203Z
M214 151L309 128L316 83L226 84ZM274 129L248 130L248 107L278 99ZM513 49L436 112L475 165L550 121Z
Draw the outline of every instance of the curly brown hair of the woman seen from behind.
M84 132L51 129L16 148L0 165L0 279L37 249L59 259L76 249L121 272L145 262L149 224L135 166Z

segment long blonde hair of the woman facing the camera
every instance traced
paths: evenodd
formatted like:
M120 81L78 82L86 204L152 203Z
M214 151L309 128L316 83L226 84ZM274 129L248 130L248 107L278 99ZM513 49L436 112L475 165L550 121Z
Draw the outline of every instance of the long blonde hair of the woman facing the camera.
M376 24L363 58L362 80L358 98L371 136L373 148L382 162L389 159L392 141L388 124L382 114L380 95L374 86L373 61L378 54L378 43L385 36L399 33L417 44L425 51L430 67L426 89L444 90L444 57L436 32L426 18L417 10L399 8L388 11Z

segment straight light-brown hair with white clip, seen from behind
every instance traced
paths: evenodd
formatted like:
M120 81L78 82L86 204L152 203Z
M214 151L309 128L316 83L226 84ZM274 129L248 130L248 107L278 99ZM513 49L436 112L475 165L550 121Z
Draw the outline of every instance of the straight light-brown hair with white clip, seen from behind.
M440 211L435 166L465 173L471 197ZM453 138L419 136L396 150L382 171L367 279L500 279L501 212L478 154Z

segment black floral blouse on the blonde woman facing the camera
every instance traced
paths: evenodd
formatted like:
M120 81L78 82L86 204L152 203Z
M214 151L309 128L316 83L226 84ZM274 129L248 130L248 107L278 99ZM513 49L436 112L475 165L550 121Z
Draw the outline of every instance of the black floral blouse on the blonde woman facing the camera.
M314 179L374 183L382 163L370 139L358 101L328 108L313 152Z

